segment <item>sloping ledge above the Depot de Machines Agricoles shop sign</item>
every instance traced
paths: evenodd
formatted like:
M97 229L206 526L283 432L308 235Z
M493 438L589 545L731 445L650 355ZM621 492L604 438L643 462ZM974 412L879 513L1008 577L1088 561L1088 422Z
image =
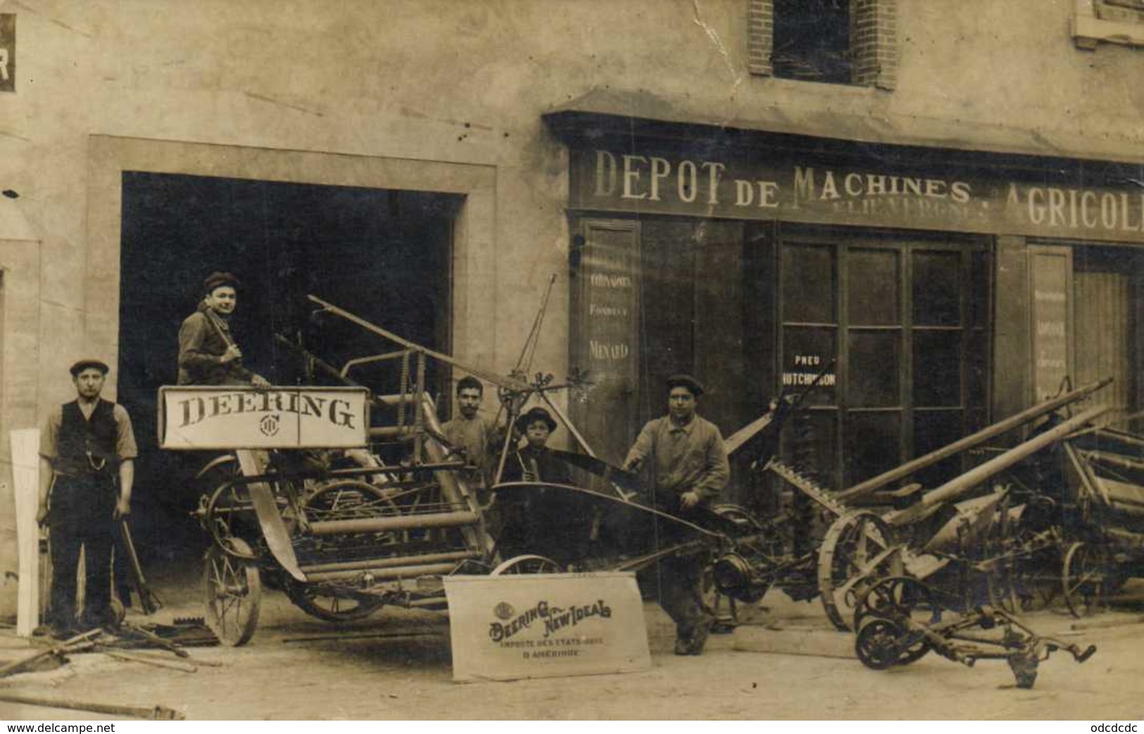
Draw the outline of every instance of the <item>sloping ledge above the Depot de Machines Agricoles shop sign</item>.
M543 115L564 142L590 142L617 136L696 139L750 145L753 142L819 152L855 152L893 146L945 151L940 158L966 165L1040 168L1051 161L1099 161L1118 168L1144 167L1144 138L1127 135L1085 135L1063 130L1023 129L943 118L855 114L805 110L778 104L731 101L718 107L692 97L667 97L648 91L593 89ZM865 151L868 153L868 151ZM958 154L961 153L961 154ZM914 153L915 155L917 153ZM951 155L952 154L952 155ZM979 155L986 154L986 155ZM932 157L932 153L931 153ZM999 158L1000 157L1000 158ZM1119 171L1125 175L1125 171Z

